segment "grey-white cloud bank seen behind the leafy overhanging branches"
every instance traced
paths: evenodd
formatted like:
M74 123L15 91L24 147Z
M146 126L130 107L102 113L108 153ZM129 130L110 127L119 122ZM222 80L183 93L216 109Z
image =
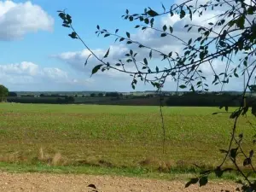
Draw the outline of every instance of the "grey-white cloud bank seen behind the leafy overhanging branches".
M205 3L205 1L201 0L201 3ZM181 3L178 1L177 3ZM146 45L148 47L158 49L161 52L168 54L169 52L177 52L180 53L183 51L183 44L182 42L177 39L180 38L184 42L188 42L189 38L198 38L201 36L201 34L197 31L197 29L192 29L190 32L187 32L186 29L184 29L184 26L186 24L195 24L198 26L207 26L209 22L215 23L218 20L218 17L216 15L219 15L222 13L224 8L220 9L214 9L209 10L204 13L203 16L194 15L193 21L189 19L189 15L186 15L182 20L180 20L179 15L166 15L158 21L158 23L155 23L156 28L161 28L163 25L172 26L174 29L174 32L172 33L174 36L167 36L165 38L160 38L161 32L157 32L151 29L146 30L145 32L139 30L135 34L131 34L131 38L134 41L140 42L143 45ZM176 38L177 37L177 38ZM85 39L86 42L86 39ZM131 44L127 45L124 43L118 43L113 44L110 46L110 54L108 57L108 61L111 64L115 64L119 59L124 59L125 54L129 52L130 49L133 49L134 52L138 52L137 60L143 60L144 57L148 57L149 49L139 49L137 45ZM107 49L94 49L93 50L96 55L98 55L100 58L106 53ZM90 52L87 49L76 51L76 52L65 52L61 53L59 55L54 55L55 58L60 59L61 61L66 62L68 65L72 66L74 69L78 70L79 72L84 71L85 73L90 73L90 70L92 67L99 64L99 61L96 61L95 58L91 58L89 60L90 66L84 68L84 61L86 60L87 56L90 55ZM160 61L160 55L159 54L153 54L154 64L157 64L160 68L166 67L166 63ZM132 67L131 64L128 65L130 69L135 69L135 67ZM215 69L216 73L222 73L225 70L225 63L222 61L214 61L212 63L212 67ZM212 78L214 78L214 73L212 72L212 67L208 65L207 63L204 64L204 66L201 67L201 70L203 73L207 76L209 76L209 84L212 83ZM105 73L108 76L112 78L121 77L124 78L125 76L122 73L118 72L110 72ZM172 79L168 79L168 82L173 82ZM231 89L235 89L236 85L241 82L241 79L234 79L234 84L228 85ZM235 89L236 90L236 89Z

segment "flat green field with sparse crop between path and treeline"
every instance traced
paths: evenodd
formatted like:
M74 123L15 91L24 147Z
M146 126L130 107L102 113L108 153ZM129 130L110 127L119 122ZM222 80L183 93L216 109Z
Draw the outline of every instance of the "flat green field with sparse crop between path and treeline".
M218 111L163 108L163 154L158 107L0 103L0 167L15 163L192 172L193 164L217 166L223 155L218 149L227 147L233 122L230 113L212 115ZM255 123L251 115L242 117L238 133L251 141L248 119Z

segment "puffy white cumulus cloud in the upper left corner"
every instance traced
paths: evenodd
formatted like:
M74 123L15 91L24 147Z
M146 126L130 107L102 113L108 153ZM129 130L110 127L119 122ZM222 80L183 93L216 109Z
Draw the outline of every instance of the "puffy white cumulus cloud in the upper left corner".
M53 25L54 19L36 4L0 1L0 40L20 39L39 30L51 32Z

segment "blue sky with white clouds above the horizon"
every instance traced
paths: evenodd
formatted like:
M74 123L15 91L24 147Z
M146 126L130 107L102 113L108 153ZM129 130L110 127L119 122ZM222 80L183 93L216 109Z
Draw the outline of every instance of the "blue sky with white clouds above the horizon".
M113 44L113 38L98 38L95 34L96 25L110 31L119 28L120 34L131 32L131 38L143 44L162 51L178 52L181 51L181 46L172 38L163 40L153 31L137 31L134 23L121 18L125 9L132 13L143 13L145 7L161 10L161 3L170 6L175 1L0 0L0 84L14 91L131 91L129 75L109 71L90 77L91 69L99 63L92 58L84 67L89 52L79 41L67 36L70 31L61 26L62 21L56 11L67 9L68 14L73 17L73 26L90 49L97 55L104 55L110 47L110 61L116 62L130 48L125 44ZM209 18L214 14L216 13L209 13ZM191 32L188 36L183 32L183 26L188 20L189 18L179 20L178 16L166 16L157 22L158 25L173 26L181 38L189 40L198 34ZM195 22L201 21L201 18L195 18ZM142 50L141 58L146 54L148 52ZM152 62L159 64L159 61L160 58L155 56ZM162 62L160 65L164 67L166 63ZM223 69L220 61L216 61L214 66L219 71ZM202 70L207 75L212 75L209 67L202 67ZM241 90L241 86L242 80L235 79L225 89ZM153 89L145 84L138 84L136 88ZM218 89L219 87L212 87L212 90ZM176 90L176 83L167 79L165 90Z

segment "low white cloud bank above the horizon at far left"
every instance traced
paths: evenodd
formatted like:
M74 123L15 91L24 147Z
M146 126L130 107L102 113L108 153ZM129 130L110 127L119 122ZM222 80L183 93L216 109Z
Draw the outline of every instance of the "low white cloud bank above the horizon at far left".
M26 90L58 90L58 86L86 87L93 79L78 78L57 67L40 67L32 62L0 65L0 82L11 89L26 87Z

